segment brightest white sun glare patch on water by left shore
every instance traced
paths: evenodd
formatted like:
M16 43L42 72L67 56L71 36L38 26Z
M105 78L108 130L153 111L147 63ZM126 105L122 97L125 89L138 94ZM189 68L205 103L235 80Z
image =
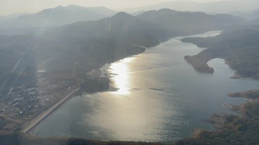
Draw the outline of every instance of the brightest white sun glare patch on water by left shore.
M113 92L115 94L126 95L130 92L128 91L129 79L128 79L128 64L134 59L134 57L125 58L117 63L113 63L110 66L110 73L117 74L112 78L114 82L114 87L118 88L117 91Z

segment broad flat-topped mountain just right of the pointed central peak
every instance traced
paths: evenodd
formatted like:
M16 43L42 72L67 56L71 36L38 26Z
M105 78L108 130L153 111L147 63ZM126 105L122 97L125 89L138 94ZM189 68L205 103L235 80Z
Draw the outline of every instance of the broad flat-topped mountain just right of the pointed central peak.
M227 14L208 15L202 12L181 12L170 9L152 10L136 17L161 25L168 30L174 31L177 35L220 30L225 26L243 22L241 18Z

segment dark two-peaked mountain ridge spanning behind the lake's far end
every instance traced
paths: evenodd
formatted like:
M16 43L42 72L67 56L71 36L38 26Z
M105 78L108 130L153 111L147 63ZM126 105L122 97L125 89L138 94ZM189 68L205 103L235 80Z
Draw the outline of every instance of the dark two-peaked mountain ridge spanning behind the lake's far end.
M242 23L239 17L201 12L180 12L170 9L144 12L136 17L119 12L98 21L77 22L45 32L48 37L87 39L108 37L121 39L128 35L148 34L156 39L219 30ZM136 43L137 44L137 43Z

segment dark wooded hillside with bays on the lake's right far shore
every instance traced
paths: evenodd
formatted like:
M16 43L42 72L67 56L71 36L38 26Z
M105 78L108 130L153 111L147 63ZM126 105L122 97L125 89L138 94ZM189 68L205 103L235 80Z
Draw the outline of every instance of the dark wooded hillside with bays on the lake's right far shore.
M259 31L225 31L215 37L183 38L182 41L208 48L196 56L185 57L195 68L197 60L203 60L201 62L206 64L211 59L222 58L243 77L259 74Z

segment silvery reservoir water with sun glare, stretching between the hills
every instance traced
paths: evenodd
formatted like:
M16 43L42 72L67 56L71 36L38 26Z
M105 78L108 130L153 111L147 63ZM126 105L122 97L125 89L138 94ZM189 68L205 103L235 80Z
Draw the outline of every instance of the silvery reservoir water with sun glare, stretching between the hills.
M195 36L218 35L211 31ZM72 99L36 131L40 136L84 137L101 140L171 142L188 137L194 128L213 129L203 122L213 113L233 113L224 103L238 105L245 99L230 92L258 89L250 78L230 79L234 70L223 60L208 64L213 74L195 71L183 59L203 49L172 38L143 54L108 67L107 91Z

